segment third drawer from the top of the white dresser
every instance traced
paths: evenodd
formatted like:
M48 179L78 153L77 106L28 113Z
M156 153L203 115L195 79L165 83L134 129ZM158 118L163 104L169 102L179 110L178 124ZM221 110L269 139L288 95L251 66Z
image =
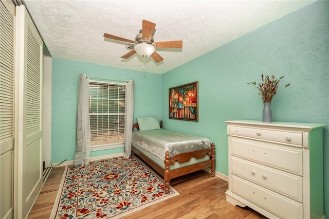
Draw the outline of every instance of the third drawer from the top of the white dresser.
M276 191L284 196L303 201L301 176L269 168L237 157L232 157L232 174Z

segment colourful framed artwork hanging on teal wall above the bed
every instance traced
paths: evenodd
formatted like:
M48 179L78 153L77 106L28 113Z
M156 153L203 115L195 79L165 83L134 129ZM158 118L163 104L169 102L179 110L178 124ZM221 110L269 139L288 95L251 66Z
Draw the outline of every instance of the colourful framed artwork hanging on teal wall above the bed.
M169 119L198 121L198 82L169 88Z

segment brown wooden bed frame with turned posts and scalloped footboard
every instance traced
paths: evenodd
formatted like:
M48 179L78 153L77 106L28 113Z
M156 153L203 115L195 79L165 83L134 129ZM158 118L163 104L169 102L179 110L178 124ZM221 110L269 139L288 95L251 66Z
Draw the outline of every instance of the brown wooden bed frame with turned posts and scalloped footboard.
M162 129L162 120L160 121L160 127ZM139 130L138 123L133 124L133 130L134 129ZM132 151L139 156L141 159L143 159L145 162L148 163L153 169L155 169L161 176L163 176L163 179L165 180L166 190L165 193L169 193L169 186L170 186L170 179L176 178L178 176L186 175L198 170L203 170L210 167L211 170L211 176L215 176L215 144L211 143L211 149L203 149L203 150L197 150L182 154L174 155L170 159L170 154L167 151L165 156L165 161L163 163L163 166L159 166L156 162L151 160L148 156L144 155L142 152L140 152L138 149L132 145ZM169 170L170 165L175 165L176 162L178 163L184 163L188 162L192 157L195 159L204 158L206 155L210 157L209 160L198 162L193 165L188 165L185 167Z

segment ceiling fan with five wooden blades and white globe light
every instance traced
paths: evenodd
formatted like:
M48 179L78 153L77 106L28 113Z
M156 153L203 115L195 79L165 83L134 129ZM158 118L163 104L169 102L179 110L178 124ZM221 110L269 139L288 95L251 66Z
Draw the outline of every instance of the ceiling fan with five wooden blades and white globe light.
M121 38L120 36L115 36L108 33L104 33L104 38L132 43L133 45L127 45L132 50L124 54L121 58L128 59L137 52L139 56L144 58L144 62L145 62L145 58L150 56L156 62L161 62L163 60L163 58L155 51L155 48L182 48L181 40L154 42L153 39L154 32L155 32L155 24L147 20L143 20L142 29L136 35L135 40Z

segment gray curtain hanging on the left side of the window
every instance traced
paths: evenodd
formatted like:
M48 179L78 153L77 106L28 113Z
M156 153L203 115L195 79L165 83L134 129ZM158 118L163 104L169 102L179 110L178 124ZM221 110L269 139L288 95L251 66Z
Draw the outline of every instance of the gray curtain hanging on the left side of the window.
M74 165L89 163L90 158L90 121L89 121L89 77L80 75L78 90L77 136Z

